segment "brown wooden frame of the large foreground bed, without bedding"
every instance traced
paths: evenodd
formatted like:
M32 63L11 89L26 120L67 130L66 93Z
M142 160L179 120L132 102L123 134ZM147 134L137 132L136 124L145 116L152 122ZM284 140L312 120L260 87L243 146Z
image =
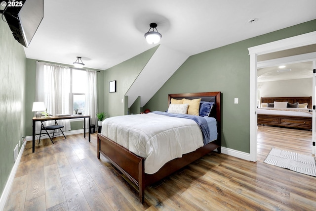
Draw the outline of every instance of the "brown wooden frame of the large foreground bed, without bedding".
M134 153L128 151L124 147L111 141L107 137L98 133L98 146L97 157L100 158L102 154L107 158L115 167L118 168L128 179L130 179L137 187L139 193L139 200L144 203L145 188L162 178L174 173L175 171L183 168L189 163L203 157L204 155L217 149L221 153L221 92L205 92L205 93L188 93L188 94L171 94L168 95L168 105L170 99L194 99L215 97L215 107L213 107L212 116L217 120L218 137L217 140L208 143L207 145L198 148L196 151L183 155L182 158L175 158L164 164L158 172L154 174L147 174L144 172L145 158L139 157ZM215 108L215 109L214 109ZM144 114L146 115L146 114Z

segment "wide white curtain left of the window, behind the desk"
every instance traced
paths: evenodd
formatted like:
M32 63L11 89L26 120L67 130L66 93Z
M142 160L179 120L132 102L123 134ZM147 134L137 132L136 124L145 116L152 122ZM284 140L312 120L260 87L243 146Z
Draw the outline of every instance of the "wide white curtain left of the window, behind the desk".
M44 102L47 113L52 115L69 113L70 77L69 67L37 61L35 99L36 102ZM54 124L54 121L46 121L45 124ZM58 120L58 124L64 125L64 131L71 130L68 119ZM36 133L40 133L38 125Z

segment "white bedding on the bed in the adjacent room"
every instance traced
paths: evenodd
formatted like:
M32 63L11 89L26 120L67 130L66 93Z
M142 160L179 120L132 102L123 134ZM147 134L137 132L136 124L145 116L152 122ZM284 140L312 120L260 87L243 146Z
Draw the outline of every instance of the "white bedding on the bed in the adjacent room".
M304 116L312 117L312 112L309 112L308 108L269 108L262 107L257 109L257 114L268 115L286 115L286 116Z

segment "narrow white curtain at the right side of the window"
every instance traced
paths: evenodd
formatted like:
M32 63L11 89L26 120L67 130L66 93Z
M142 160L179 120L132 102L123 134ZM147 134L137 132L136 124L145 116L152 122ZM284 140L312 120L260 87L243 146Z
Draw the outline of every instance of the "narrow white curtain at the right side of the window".
M97 102L97 72L86 70L87 87L85 93L85 115L91 116L91 124L96 124ZM88 124L88 122L86 122ZM87 125L86 125L87 126Z

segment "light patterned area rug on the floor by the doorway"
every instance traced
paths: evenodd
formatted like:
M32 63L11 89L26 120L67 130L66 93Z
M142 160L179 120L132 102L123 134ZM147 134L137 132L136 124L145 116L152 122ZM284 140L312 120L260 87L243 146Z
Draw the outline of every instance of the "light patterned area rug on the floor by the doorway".
M265 163L316 177L316 161L313 156L272 148Z

